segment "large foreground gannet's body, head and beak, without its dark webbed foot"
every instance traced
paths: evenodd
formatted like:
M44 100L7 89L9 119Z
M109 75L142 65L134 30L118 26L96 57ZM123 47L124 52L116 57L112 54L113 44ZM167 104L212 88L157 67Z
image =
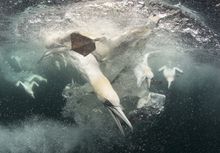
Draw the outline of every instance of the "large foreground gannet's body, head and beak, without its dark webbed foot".
M84 78L91 84L97 98L103 102L106 106L113 119L115 120L121 133L124 135L120 120L123 120L132 130L133 127L130 121L122 111L120 99L113 89L110 81L102 73L99 63L97 62L94 55L89 54L83 56L77 52L69 51L70 60L75 68L77 68Z

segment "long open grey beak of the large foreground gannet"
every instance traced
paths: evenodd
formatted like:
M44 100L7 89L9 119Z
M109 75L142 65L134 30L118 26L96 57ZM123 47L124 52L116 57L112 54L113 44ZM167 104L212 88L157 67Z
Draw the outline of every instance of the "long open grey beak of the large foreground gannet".
M125 116L122 108L120 106L113 106L111 102L105 101L105 106L107 107L108 111L112 115L113 119L115 120L119 130L121 131L122 135L125 135L123 127L121 125L120 119L123 120L127 126L133 131L133 126L131 125L130 121Z

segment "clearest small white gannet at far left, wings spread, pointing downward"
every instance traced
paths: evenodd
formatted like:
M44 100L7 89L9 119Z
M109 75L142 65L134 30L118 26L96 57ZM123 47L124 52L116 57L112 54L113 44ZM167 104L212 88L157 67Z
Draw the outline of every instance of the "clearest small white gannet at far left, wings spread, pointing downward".
M18 82L16 83L16 86L18 87L18 86L20 86L20 85L24 88L24 90L25 90L32 98L35 98L34 92L33 92L33 87L34 87L34 85L37 86L37 87L39 86L39 85L37 84L37 82L35 82L35 81L32 81L32 82L28 82L28 81L21 82L21 81L18 81Z

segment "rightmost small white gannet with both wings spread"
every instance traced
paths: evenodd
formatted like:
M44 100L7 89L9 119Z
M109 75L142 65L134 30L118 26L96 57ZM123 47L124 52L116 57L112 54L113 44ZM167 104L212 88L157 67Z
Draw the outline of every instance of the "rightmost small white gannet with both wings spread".
M183 70L181 70L178 67L172 67L170 68L171 63L169 63L169 66L164 65L163 67L161 67L159 69L159 71L163 71L163 75L166 78L167 82L168 82L168 89L171 86L171 83L174 81L175 76L176 76L176 71L183 73Z

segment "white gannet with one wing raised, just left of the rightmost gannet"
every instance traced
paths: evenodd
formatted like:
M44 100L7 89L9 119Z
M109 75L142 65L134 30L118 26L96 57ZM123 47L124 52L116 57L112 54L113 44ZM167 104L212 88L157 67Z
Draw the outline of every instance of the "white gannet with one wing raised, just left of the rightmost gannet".
M154 77L154 73L151 70L151 67L149 66L148 59L149 56L158 53L158 51L155 52L149 52L144 55L143 61L140 62L135 68L134 68L134 74L137 78L137 86L140 87L142 85L142 82L147 78L147 84L148 88L150 88L151 80Z

